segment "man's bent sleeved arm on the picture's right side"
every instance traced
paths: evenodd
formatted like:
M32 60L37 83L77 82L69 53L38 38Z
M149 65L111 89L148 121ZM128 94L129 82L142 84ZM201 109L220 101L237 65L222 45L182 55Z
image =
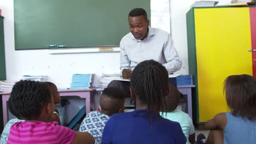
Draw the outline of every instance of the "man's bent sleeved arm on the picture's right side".
M179 57L179 54L176 51L172 38L169 34L166 38L166 43L164 45L164 56L167 63L163 65L167 69L169 74L172 74L181 69L182 67L181 58Z

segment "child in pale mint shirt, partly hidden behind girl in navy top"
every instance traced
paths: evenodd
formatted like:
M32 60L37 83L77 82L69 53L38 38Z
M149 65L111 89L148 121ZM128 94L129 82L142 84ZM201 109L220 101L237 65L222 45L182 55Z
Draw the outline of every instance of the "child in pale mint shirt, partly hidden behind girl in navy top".
M170 119L171 121L181 124L182 131L187 138L187 144L194 144L195 142L195 128L188 113L177 109L181 93L177 87L169 84L170 94L166 95L166 107L161 113L162 117Z

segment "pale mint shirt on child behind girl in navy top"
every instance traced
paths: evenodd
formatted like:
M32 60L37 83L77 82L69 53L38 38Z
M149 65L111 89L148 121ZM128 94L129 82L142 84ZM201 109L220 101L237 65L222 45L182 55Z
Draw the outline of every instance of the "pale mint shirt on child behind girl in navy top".
M162 114L162 112L160 112L160 114ZM187 144L190 144L189 135L195 133L195 128L191 118L187 113L176 109L172 112L164 112L162 117L181 124L182 131L187 138Z

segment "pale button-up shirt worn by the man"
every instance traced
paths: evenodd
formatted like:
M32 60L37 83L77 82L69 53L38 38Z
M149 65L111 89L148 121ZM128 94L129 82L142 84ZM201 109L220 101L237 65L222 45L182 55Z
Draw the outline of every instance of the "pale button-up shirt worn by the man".
M148 37L144 40L135 39L131 32L121 39L120 70L133 70L138 63L149 59L164 65L169 74L181 69L182 61L170 34L158 28L148 29Z

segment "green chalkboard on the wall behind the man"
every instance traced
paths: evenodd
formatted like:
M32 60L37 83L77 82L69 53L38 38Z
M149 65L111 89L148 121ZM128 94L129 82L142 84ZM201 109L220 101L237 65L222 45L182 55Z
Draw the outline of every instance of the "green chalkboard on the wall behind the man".
M15 50L119 45L128 14L150 0L14 0Z

